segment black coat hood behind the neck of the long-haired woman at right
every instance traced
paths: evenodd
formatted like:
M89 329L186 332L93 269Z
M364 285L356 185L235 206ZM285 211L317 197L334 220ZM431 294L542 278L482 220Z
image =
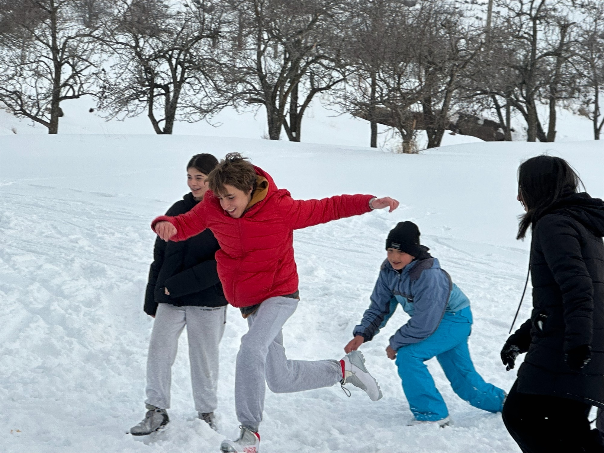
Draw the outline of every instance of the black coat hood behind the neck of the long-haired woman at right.
M572 217L597 237L604 237L604 201L599 198L586 192L573 193L547 210L547 214L553 213Z

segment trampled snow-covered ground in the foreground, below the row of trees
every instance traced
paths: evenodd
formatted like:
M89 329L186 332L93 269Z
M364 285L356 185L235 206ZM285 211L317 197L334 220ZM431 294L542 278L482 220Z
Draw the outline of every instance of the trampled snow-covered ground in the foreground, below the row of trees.
M604 197L604 150L574 143L474 143L420 155L344 146L202 136L7 135L0 138L0 450L217 451L237 429L234 358L244 320L228 310L221 344L220 432L196 419L186 336L173 368L171 423L124 434L144 414L152 319L142 310L154 234L149 222L187 191L191 155L239 151L295 198L390 195L374 211L295 233L301 302L286 324L288 355L339 359L368 306L384 239L400 220L471 298L470 349L485 379L515 379L499 350L522 291L528 241L516 242L516 168L548 152L568 159ZM529 301L530 302L530 301ZM528 306L520 319L528 315ZM339 386L267 393L264 451L518 451L498 414L472 408L429 367L453 425L406 426L411 413L384 349L402 310L362 346L384 398Z

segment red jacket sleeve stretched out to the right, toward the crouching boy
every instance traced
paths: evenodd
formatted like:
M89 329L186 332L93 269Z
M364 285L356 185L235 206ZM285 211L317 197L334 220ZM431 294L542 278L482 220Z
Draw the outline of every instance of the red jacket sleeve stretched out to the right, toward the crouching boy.
M294 200L288 193L281 197L279 208L289 226L298 230L368 213L371 211L369 207L371 198L373 195L336 195L321 200Z

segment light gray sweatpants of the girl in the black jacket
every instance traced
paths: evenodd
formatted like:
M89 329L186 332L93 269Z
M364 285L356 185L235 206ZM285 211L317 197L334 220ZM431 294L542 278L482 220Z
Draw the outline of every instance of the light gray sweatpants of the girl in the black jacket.
M214 412L217 406L218 346L225 330L225 307L175 307L160 303L147 356L147 400L160 409L170 407L172 365L178 338L187 326L193 400L198 412Z

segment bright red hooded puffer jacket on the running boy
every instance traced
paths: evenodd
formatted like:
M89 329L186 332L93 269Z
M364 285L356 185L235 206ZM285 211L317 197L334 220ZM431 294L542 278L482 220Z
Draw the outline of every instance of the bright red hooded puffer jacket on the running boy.
M339 195L322 200L294 200L289 191L277 189L268 173L254 167L268 180L266 197L233 219L208 190L202 202L185 214L160 216L178 233L179 241L210 228L220 244L216 252L218 275L226 300L234 307L258 304L269 297L293 294L298 290L294 261L294 230L356 216L371 210L373 195Z

